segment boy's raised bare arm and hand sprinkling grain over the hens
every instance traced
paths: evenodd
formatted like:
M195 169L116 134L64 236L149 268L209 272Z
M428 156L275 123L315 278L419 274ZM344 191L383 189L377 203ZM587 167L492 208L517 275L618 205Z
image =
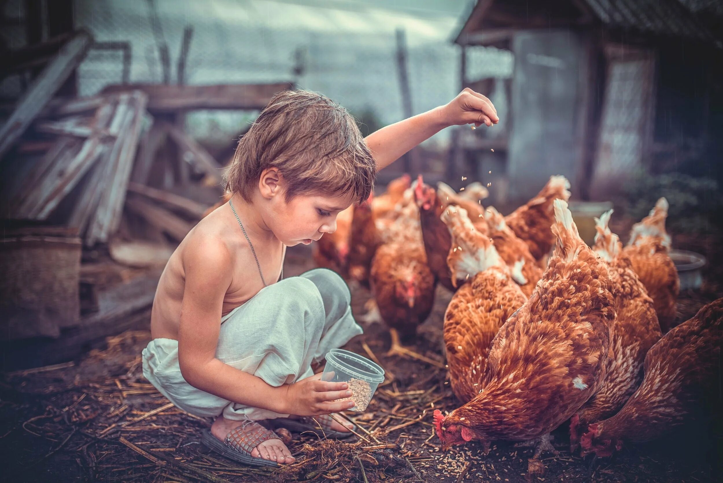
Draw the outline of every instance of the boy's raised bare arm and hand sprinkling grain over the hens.
M475 124L478 127L485 124L489 127L499 121L492 102L466 87L445 106L382 127L369 134L366 140L377 167L382 169L445 127L460 124Z

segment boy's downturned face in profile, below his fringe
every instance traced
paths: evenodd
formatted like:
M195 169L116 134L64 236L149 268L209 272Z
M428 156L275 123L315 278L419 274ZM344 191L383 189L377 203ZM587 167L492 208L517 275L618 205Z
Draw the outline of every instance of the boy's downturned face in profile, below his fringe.
M299 195L286 202L283 196L272 202L272 217L266 223L274 235L288 247L310 244L325 233L336 231L336 216L354 201L343 196Z

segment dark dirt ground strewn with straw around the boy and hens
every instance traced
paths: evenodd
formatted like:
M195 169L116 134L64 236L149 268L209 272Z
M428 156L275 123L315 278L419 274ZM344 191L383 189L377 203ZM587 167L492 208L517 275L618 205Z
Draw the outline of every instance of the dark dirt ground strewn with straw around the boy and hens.
M680 296L681 320L723 294L719 241L714 234L674 237L675 247L709 260L703 288ZM290 251L287 275L309 268L309 252ZM368 296L354 290L357 315L364 313ZM348 413L361 427L356 442L294 435L290 448L296 463L273 471L215 456L200 444L209 422L175 409L142 376L140 351L150 333L135 330L108 338L106 347L77 361L1 376L2 473L12 482L528 482L529 448L497 443L484 456L476 443L448 453L437 445L432 411L458 407L442 356L441 321L449 299L447 291L437 290L435 310L414 345L435 364L385 356L389 336L382 325L365 326L364 335L348 344L359 354L371 352L393 374L367 411ZM570 454L565 432L563 425L554 433L560 455L543 456L546 473L533 481L709 482L719 477L715 448L706 438L676 435L625 448L613 458L583 460Z

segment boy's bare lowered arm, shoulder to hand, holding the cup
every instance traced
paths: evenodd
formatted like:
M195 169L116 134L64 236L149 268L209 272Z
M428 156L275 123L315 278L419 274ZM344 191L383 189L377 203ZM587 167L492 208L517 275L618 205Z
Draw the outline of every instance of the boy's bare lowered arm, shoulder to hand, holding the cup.
M185 248L183 262L186 284L179 325L179 367L190 385L234 403L279 414L315 416L354 406L349 401L330 402L348 396L346 383L322 382L320 375L315 375L274 387L216 359L223 296L231 285L231 255L216 240L193 240Z

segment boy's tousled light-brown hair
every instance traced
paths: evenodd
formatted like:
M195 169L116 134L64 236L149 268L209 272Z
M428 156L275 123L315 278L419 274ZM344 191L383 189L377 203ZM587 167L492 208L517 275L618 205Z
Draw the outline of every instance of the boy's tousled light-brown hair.
M348 193L361 202L377 174L354 117L306 90L284 90L263 108L236 147L226 190L250 201L262 172L272 167L287 180L287 202L296 195Z

